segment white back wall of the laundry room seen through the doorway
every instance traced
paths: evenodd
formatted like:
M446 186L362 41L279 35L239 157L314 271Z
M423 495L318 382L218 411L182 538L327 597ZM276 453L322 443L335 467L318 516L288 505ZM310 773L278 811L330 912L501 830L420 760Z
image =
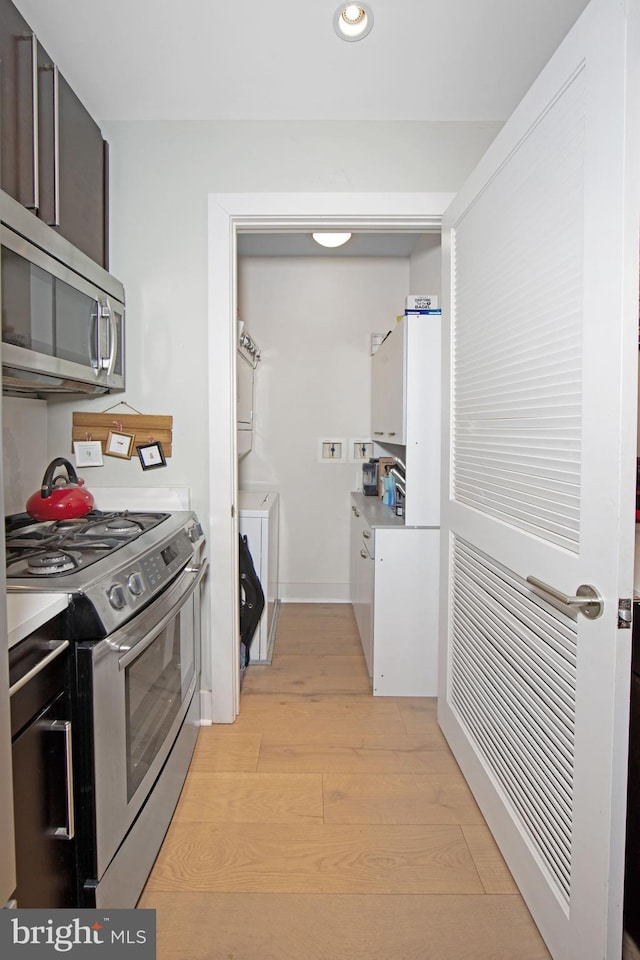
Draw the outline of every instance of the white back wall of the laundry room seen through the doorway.
M349 598L349 493L362 467L319 462L318 444L370 438L371 334L393 326L408 283L403 258L239 261L239 315L263 357L239 479L280 491L284 601Z

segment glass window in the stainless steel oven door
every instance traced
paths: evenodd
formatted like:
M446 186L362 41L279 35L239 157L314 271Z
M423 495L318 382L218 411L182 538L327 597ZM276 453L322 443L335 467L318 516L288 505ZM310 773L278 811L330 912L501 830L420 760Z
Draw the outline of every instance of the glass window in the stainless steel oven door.
M127 801L183 708L196 669L193 611L188 603L126 667Z

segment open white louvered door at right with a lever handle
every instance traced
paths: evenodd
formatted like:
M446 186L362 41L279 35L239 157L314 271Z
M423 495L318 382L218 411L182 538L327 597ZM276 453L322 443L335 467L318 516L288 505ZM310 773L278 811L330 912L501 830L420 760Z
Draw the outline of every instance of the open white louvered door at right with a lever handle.
M439 719L558 960L621 951L640 207L626 9L593 0L443 232ZM603 612L530 577L590 585Z

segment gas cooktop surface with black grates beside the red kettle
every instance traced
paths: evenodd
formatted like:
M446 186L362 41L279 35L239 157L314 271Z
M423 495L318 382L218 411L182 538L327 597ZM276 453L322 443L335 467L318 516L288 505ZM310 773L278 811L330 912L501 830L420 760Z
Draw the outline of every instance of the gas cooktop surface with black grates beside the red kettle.
M5 520L7 579L78 574L168 517L167 513L93 510L69 520L34 521L26 513L13 514Z

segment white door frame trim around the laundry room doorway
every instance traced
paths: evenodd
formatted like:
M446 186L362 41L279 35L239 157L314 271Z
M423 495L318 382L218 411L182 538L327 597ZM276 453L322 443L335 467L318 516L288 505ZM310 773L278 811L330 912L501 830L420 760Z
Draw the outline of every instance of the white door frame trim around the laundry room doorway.
M325 230L439 232L453 193L210 194L208 204L209 547L211 717L239 712L235 432L237 235Z

